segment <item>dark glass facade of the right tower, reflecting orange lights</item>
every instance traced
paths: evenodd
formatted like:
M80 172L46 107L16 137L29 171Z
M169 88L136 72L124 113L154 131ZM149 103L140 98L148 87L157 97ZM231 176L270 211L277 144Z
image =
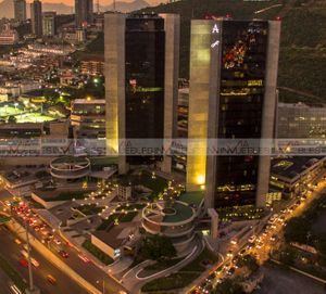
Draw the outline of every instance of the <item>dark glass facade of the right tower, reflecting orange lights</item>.
M267 22L223 22L217 138L261 138ZM217 156L215 207L255 203L259 156Z

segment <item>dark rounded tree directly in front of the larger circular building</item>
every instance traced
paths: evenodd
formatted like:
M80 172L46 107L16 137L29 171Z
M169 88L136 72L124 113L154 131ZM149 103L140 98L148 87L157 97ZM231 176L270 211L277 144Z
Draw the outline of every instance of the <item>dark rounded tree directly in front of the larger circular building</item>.
M139 253L143 258L152 260L164 260L176 256L171 239L159 234L145 237Z

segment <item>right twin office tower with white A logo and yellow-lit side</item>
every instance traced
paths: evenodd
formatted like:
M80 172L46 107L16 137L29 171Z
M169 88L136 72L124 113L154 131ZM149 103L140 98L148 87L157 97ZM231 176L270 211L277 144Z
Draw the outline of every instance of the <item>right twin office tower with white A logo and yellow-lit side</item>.
M205 189L206 208L264 206L269 157L210 152L212 140L273 138L279 35L279 22L191 23L187 189Z

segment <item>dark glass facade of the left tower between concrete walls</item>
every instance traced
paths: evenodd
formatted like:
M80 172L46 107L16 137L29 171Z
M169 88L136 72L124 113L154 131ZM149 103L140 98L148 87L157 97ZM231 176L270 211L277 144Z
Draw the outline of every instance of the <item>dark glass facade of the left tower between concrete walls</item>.
M164 130L164 20L134 15L126 20L125 36L126 139L163 139ZM130 164L147 156L128 156Z

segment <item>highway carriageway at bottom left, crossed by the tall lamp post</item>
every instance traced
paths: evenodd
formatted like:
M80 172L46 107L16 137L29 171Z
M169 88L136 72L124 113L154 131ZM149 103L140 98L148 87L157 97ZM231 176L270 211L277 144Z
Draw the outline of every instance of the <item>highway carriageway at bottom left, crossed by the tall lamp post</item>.
M22 259L21 245L14 242L15 235L11 234L7 230L0 230L0 254L12 265L12 267L22 274L22 277L28 281L28 269L20 265ZM58 293L80 293L88 294L88 292L76 284L70 277L65 276L60 269L54 267L38 252L32 250L32 256L40 264L38 268L33 267L34 282L45 294L58 294ZM57 284L52 285L47 280L47 276L51 274L57 279Z

